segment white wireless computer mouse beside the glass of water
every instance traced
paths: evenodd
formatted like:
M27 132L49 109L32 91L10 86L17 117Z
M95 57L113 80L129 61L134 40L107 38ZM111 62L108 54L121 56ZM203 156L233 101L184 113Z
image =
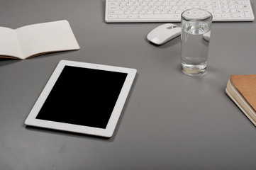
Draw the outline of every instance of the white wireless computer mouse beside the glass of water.
M181 32L182 29L180 27L177 27L172 23L165 23L151 30L150 33L148 33L147 38L154 44L162 45L165 44L165 42L168 42L169 40L179 36Z

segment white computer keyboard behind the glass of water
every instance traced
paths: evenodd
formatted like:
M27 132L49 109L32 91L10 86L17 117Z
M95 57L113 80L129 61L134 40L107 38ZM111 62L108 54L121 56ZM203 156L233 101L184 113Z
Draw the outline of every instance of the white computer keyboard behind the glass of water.
M250 0L106 0L106 23L180 22L189 8L212 13L213 21L254 21Z

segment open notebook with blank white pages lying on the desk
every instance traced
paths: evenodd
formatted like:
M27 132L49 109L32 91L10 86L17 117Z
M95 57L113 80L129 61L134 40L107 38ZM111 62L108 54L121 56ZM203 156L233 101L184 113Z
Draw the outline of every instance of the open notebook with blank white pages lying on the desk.
M24 60L48 52L79 49L66 20L38 23L16 30L0 27L0 57Z

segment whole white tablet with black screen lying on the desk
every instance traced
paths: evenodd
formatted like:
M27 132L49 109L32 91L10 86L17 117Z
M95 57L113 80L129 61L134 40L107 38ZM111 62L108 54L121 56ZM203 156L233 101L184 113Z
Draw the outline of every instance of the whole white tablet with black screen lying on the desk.
M25 124L111 137L136 69L62 60Z

